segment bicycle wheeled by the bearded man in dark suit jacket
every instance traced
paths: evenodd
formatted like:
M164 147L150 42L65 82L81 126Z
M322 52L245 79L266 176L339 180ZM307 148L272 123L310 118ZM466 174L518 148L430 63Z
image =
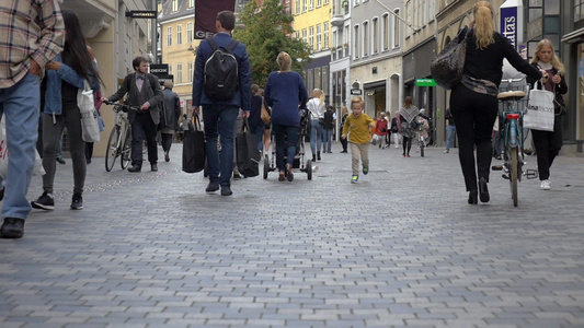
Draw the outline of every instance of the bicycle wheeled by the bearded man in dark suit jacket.
M114 106L115 125L110 132L110 138L107 139L107 149L105 152L105 171L110 172L114 167L115 161L117 157L121 157L122 169L126 169L129 163L131 162L130 151L131 151L131 133L130 125L128 120L128 110L138 110L140 109L137 106L130 106L114 102L104 102L106 105Z

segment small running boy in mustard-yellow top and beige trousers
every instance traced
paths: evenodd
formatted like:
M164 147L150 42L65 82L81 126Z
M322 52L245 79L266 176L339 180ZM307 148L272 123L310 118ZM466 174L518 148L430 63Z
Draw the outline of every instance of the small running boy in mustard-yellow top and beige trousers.
M363 174L369 173L369 142L371 141L370 128L375 128L375 120L367 114L363 113L365 103L362 97L351 99L351 110L353 112L345 120L343 134L341 138L351 143L351 153L353 157L353 177L352 184L359 181L359 154L363 162ZM350 134L351 132L351 134Z

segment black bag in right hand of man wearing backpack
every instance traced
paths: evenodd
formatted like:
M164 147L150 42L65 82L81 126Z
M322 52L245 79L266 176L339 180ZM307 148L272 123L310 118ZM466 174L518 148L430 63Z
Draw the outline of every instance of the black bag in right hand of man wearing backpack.
M244 177L260 175L257 143L257 136L250 133L248 118L243 118L241 131L236 136L236 157L238 171Z

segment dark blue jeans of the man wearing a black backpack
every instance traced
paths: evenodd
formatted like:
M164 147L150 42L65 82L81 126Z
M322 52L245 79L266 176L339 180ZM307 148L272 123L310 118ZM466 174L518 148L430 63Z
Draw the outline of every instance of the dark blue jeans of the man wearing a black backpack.
M233 172L233 133L239 107L232 105L203 105L203 122L207 142L207 166L209 181L231 186ZM221 154L217 148L220 136Z

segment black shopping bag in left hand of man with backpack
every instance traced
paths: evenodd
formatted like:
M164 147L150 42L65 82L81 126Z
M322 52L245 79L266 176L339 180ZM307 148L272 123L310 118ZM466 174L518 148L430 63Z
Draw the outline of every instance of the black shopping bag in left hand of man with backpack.
M188 124L183 140L183 171L197 173L205 169L207 149L205 133L201 129L201 119L195 116L195 124Z

